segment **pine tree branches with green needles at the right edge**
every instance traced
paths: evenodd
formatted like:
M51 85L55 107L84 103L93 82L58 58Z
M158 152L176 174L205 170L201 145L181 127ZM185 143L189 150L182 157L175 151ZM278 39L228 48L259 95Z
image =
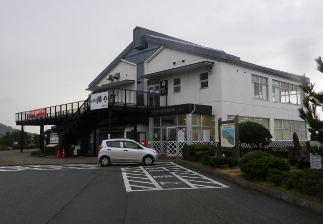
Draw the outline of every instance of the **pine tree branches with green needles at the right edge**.
M321 56L316 58L317 69L323 73L323 62ZM318 110L323 111L323 92L314 91L315 83L309 83L302 77L302 84L299 87L307 94L303 100L303 107L298 109L299 116L309 125L311 139L323 144L323 121L320 120Z

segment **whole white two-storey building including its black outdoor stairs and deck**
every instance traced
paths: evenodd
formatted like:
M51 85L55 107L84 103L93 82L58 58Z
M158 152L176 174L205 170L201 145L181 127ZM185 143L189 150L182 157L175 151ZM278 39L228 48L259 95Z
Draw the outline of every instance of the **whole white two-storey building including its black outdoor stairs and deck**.
M40 125L42 134L56 125L57 147L81 144L83 155L109 137L146 139L159 153L178 155L185 144L217 144L218 119L235 115L268 128L271 146L291 146L293 132L303 145L310 139L297 110L300 75L142 27L133 38L89 84L87 100L16 113L16 124Z

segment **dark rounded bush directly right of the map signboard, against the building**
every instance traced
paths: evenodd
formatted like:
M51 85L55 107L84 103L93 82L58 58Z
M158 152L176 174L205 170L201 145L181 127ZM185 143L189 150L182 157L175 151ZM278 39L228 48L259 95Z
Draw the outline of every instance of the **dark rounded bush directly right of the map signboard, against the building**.
M247 121L239 124L240 143L261 149L270 144L271 138L270 131L259 123Z

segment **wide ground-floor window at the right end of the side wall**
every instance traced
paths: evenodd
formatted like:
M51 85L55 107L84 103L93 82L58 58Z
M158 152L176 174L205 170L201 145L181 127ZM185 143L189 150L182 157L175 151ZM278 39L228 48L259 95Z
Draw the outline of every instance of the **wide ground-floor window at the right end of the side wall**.
M297 120L274 119L275 140L292 140L296 132L299 139L306 139L306 123Z

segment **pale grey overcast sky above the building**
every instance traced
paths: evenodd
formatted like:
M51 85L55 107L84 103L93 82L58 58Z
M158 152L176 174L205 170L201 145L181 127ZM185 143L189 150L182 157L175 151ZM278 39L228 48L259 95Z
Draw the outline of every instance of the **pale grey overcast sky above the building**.
M0 0L0 122L20 129L16 112L85 100L136 26L323 89L322 0Z

